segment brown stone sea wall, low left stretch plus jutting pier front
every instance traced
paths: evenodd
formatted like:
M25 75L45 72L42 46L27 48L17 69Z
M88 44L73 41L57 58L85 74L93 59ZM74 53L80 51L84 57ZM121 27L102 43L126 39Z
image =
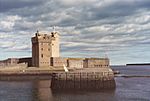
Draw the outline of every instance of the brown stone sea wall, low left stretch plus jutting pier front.
M54 90L62 89L84 89L100 90L114 89L116 84L113 72L96 71L41 71L22 70L17 72L1 72L0 80L38 80L47 79L51 81L50 87Z

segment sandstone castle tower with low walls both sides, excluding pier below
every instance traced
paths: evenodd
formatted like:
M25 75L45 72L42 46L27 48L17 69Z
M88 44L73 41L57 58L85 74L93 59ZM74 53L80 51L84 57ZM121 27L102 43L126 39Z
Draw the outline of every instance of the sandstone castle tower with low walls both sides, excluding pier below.
M108 58L66 58L60 56L59 33L41 33L32 37L32 57L9 58L0 61L0 67L62 67L68 68L107 68Z

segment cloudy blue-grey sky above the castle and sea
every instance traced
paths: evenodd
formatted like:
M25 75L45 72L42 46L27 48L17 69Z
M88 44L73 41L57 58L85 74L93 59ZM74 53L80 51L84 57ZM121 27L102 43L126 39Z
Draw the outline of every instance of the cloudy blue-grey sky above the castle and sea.
M31 57L31 37L53 26L62 57L150 62L150 0L0 0L0 60Z

